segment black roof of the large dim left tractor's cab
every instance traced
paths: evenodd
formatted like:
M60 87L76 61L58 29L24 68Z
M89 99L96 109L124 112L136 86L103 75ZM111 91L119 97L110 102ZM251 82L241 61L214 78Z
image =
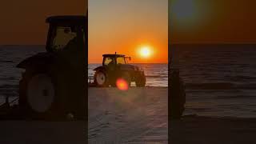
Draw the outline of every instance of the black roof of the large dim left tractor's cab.
M71 25L83 25L86 23L86 16L82 15L62 15L62 16L51 16L46 18L47 23L69 23Z

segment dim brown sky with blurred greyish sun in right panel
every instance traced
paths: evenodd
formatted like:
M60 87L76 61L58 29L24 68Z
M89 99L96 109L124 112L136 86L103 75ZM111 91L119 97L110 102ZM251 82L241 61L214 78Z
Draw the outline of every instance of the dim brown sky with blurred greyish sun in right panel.
M170 43L255 43L256 1L170 0Z

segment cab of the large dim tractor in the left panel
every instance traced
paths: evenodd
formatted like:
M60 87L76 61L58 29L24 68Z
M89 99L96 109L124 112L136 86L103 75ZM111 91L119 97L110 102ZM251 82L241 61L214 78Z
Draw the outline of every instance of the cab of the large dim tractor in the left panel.
M53 16L46 19L50 24L46 50L62 51L72 43L82 39L86 41L85 16Z

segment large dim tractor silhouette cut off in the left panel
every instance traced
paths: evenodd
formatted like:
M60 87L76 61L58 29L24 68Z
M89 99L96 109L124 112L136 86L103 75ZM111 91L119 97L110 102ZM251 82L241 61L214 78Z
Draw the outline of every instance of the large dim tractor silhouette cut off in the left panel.
M86 16L54 16L46 52L18 64L25 69L19 83L19 108L25 115L86 117Z

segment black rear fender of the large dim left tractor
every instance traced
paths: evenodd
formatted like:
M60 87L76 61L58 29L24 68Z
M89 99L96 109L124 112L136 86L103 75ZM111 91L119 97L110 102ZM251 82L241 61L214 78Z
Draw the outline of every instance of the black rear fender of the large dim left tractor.
M17 67L22 69L42 69L54 62L56 55L50 52L38 53L18 63Z

